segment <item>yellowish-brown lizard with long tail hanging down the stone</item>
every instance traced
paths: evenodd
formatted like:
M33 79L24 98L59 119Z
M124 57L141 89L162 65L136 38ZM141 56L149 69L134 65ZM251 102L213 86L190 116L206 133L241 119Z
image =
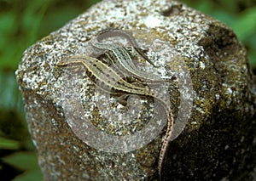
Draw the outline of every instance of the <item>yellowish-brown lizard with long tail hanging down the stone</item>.
M137 86L129 82L126 82L119 73L112 69L109 65L103 63L99 59L95 59L90 56L77 55L71 56L68 59L63 59L57 63L59 67L66 67L68 65L83 65L86 70L86 75L90 80L103 91L112 93L112 94L137 94L140 96L151 97L156 99L160 105L166 111L167 116L167 129L165 139L161 146L160 156L158 161L158 173L160 174L164 157L166 155L166 148L170 142L172 127L173 127L173 115L171 107L169 106L167 100L165 99L164 94L153 92L150 88L146 86Z

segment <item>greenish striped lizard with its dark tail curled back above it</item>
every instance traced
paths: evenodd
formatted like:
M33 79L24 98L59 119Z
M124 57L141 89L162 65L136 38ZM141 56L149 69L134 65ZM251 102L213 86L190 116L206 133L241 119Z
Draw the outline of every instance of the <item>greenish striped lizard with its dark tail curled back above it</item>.
M152 61L148 59L148 57L143 54L143 52L138 48L137 42L131 35L122 30L118 29L108 29L102 31L98 34L97 37L92 38L91 45L93 48L105 50L104 54L108 56L110 63L119 70L120 74L123 76L134 76L141 82L146 82L150 85L159 85L164 81L159 76L150 75L147 72L143 72L137 69L137 65L134 64L133 59L131 58L131 53L124 47L121 47L119 44L109 44L99 42L107 37L120 36L125 37L131 42L133 48L136 48L137 52L143 56L151 65L154 65ZM155 67L155 66L154 66Z

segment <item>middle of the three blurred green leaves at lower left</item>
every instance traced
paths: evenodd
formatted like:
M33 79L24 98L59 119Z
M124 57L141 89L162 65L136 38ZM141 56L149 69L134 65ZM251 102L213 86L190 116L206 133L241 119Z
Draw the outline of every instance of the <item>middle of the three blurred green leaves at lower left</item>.
M3 162L20 170L35 170L38 167L38 156L34 152L16 152L2 158Z

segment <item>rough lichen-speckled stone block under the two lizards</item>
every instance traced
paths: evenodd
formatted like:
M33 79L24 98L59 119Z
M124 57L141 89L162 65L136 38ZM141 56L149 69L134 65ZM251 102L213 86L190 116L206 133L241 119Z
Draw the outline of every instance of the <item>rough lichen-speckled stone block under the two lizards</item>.
M69 55L89 54L90 38L108 27L130 31L159 66L160 76L177 77L182 63L188 67L193 109L183 132L168 147L162 180L255 180L256 92L246 51L229 27L171 0L103 1L27 48L16 76L45 180L159 179L157 161L166 127L139 150L111 153L85 144L65 114L65 105L77 114L75 102L63 105L63 87L71 86L90 122L110 135L132 134L147 126L143 119L152 116L154 104L144 98L140 118L119 123L125 109L116 97L109 99L117 118L104 116L88 77L56 66ZM140 65L152 69L140 60ZM74 78L66 81L68 71ZM169 84L175 118L181 94L189 91L179 90L181 77Z

